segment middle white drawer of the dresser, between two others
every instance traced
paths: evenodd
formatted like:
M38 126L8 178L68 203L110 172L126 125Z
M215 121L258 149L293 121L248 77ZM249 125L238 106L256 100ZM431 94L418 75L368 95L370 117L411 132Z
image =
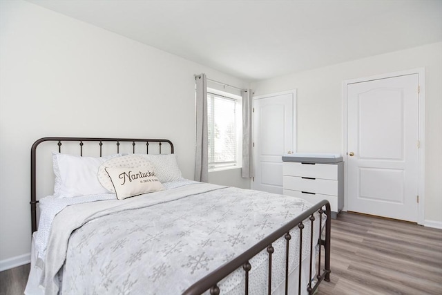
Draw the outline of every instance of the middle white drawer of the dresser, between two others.
M282 177L284 189L306 191L308 193L323 193L325 195L338 196L338 180L300 178L298 176Z

